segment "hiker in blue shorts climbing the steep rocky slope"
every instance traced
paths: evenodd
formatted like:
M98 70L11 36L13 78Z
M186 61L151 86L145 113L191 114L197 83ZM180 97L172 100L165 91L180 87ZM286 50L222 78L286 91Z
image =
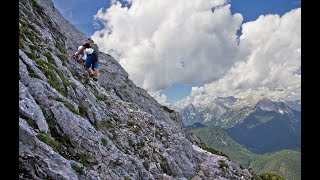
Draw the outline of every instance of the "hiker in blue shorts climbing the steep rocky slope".
M73 58L77 57L81 51L84 51L87 55L85 69L87 70L90 77L92 77L92 79L94 81L98 81L99 48L98 48L97 44L94 44L94 41L92 39L88 38L86 40L86 43L84 45L82 45L82 48L80 48L80 50L78 50L75 54L73 54L72 57ZM94 71L94 74L91 72L90 68Z

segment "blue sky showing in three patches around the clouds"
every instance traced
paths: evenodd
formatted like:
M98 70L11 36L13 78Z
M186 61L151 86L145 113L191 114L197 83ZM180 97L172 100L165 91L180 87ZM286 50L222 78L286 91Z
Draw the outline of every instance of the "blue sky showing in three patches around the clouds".
M100 8L110 6L110 0L53 0L61 14L87 36L91 36L97 29L93 26L93 16ZM260 15L283 15L291 9L301 7L300 0L232 0L232 13L241 13L244 21L254 21ZM197 84L176 83L164 89L161 93L167 96L167 102L172 103L190 94L191 88Z

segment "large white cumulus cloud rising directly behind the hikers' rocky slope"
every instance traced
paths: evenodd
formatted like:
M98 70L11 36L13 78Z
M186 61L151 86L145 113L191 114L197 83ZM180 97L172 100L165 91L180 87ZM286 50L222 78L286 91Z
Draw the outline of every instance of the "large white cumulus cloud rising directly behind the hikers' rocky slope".
M96 19L105 28L92 38L114 56L138 86L159 91L174 83L222 78L239 55L241 14L226 0L132 0L113 4ZM212 10L214 8L214 11Z

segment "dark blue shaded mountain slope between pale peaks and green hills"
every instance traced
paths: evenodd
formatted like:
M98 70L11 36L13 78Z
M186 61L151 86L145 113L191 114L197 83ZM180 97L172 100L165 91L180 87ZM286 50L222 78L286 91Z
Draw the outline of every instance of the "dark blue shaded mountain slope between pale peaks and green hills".
M255 153L288 148L299 149L300 113L295 112L293 116L256 109L241 123L227 129L227 132L233 139Z

